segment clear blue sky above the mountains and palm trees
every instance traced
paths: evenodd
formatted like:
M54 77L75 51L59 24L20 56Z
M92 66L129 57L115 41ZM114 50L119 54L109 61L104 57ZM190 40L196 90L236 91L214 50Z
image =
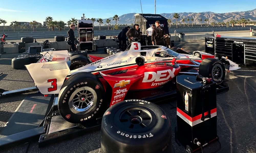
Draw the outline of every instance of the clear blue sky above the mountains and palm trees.
M143 13L154 14L154 0L141 0ZM174 12L205 12L226 13L234 11L248 11L256 8L251 0L156 0L156 14ZM215 2L215 3L211 3ZM79 3L79 4L77 4ZM253 4L254 3L254 4ZM30 22L36 20L43 23L47 16L54 20L67 22L72 17L80 19L82 14L87 18L109 18L115 14L121 16L127 13L141 13L139 0L12 0L0 1L0 18L7 21ZM3 24L1 24L3 25Z

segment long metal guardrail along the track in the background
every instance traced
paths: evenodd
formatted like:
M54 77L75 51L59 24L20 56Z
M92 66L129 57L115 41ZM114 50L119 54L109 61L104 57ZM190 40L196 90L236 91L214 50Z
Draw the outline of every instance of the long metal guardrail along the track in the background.
M169 33L196 33L196 32L212 32L214 31L239 31L250 30L250 27L187 27L169 29ZM118 35L121 30L94 30L94 36L97 35ZM1 33L0 33L1 34ZM57 35L67 36L67 31L34 31L34 32L4 32L7 34L6 40L20 39L21 37L33 36L34 38L54 38ZM75 36L78 36L78 31L74 31Z

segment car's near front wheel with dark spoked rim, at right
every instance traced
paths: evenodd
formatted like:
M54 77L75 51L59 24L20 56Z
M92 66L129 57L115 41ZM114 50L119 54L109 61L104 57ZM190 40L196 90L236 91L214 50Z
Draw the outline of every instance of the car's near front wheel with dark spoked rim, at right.
M225 80L225 66L216 58L205 58L200 63L199 74L212 78L216 84L222 84Z

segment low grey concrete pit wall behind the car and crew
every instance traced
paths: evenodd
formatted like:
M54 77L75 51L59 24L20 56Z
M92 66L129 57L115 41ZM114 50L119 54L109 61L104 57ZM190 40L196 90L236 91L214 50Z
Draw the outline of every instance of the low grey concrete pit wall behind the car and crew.
M193 41L193 40L205 40L205 37L212 36L212 34L196 34L196 35L184 35L184 41ZM117 39L115 39L117 41ZM174 42L179 41L179 36L171 36L171 40ZM98 47L106 47L106 46L115 46L115 41L113 39L96 39L94 40ZM26 43L25 50L28 50L28 46L31 45L43 45L43 42L36 43ZM56 50L67 50L69 46L66 41L55 42L50 41L49 48L55 48ZM18 43L16 44L4 44L4 52L6 53L18 53Z

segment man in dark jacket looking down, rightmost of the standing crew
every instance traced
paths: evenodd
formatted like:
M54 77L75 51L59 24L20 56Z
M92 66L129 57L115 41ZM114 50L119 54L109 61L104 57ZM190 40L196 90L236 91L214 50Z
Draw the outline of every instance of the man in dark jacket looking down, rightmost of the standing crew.
M154 45L154 41L156 45L162 45L164 46L164 27L161 27L160 21L156 21L156 28L152 31L152 44Z

